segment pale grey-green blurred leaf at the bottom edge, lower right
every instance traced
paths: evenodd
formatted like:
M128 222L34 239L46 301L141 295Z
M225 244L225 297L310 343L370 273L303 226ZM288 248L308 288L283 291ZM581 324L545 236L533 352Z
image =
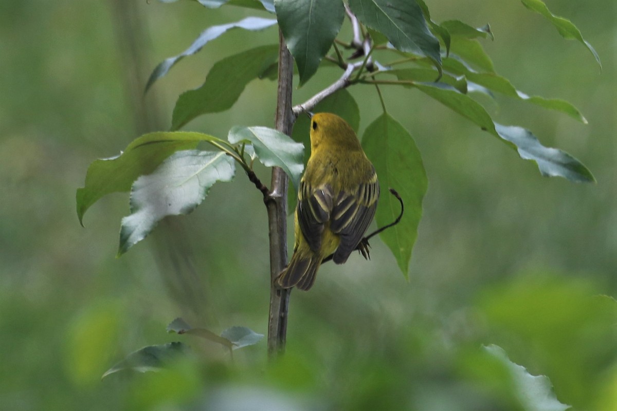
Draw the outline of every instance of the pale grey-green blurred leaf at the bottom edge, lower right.
M547 376L531 375L522 365L511 362L499 346L491 344L484 349L508 370L514 394L525 411L565 411L570 407L555 397Z

